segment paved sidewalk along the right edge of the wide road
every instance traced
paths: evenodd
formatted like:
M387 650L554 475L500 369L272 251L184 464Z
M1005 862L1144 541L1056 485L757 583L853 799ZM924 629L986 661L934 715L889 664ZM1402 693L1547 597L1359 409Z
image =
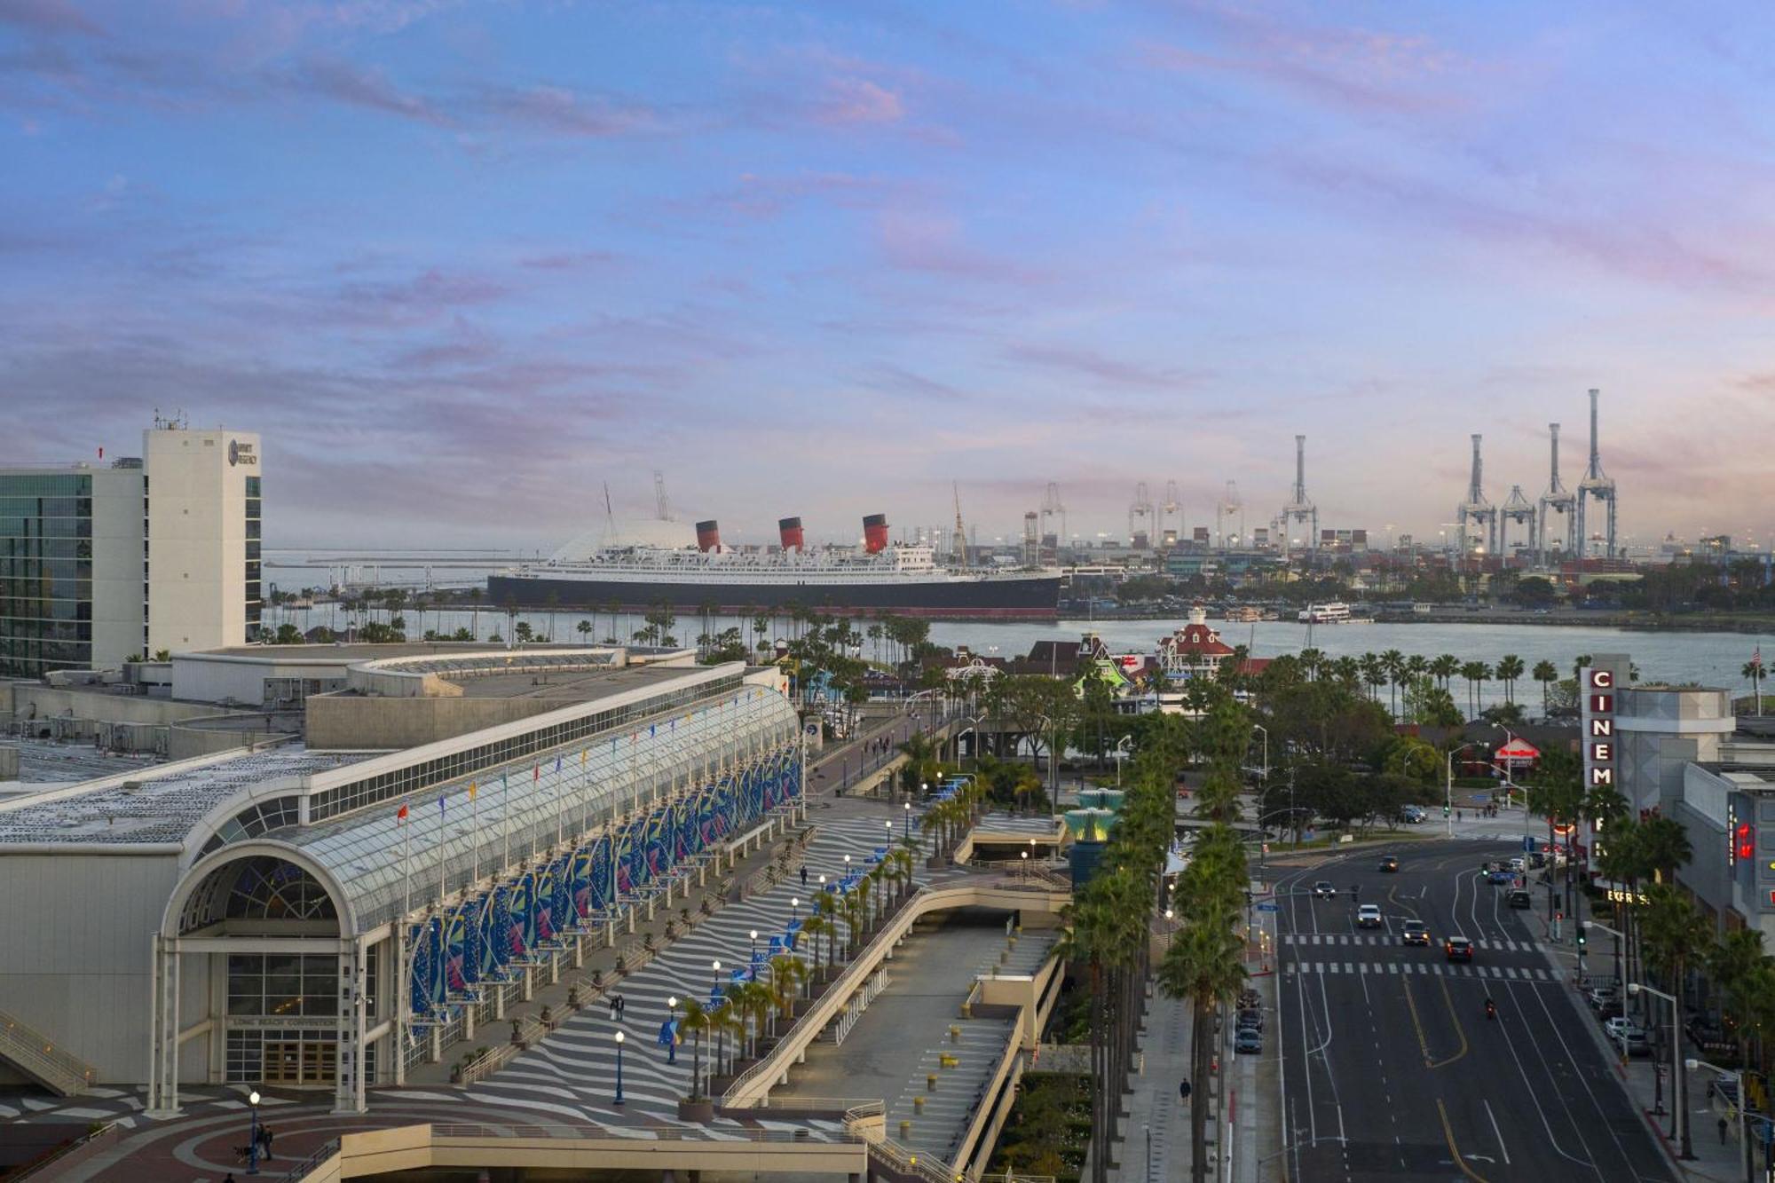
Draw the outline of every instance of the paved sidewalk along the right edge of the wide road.
M1571 924L1562 925L1560 940L1555 941L1550 934L1550 925L1546 915L1528 917L1528 927L1546 941L1548 961L1558 968L1560 977L1566 981L1567 989L1576 993L1573 986L1574 973L1578 970L1578 954L1573 945ZM1613 959L1608 956L1598 956L1592 950L1585 957L1585 966L1590 973L1610 972L1613 968ZM1658 1000L1663 1005L1661 1000ZM1690 1149L1695 1156L1683 1162L1677 1153L1683 1147L1681 1128L1677 1135L1672 1137L1672 1116L1670 1110L1676 1108L1672 1096L1672 1080L1668 1078L1668 1052L1663 1059L1660 1057L1633 1057L1622 1060L1621 1052L1610 1044L1608 1036L1603 1032L1603 1025L1590 1018L1589 1004L1583 998L1576 1000L1578 1012L1582 1016L1580 1025L1590 1032L1590 1039L1596 1046L1603 1050L1608 1062L1615 1066L1615 1075L1621 1076L1628 1096L1633 1098L1633 1107L1645 1119L1645 1128L1653 1131L1658 1146L1663 1147L1665 1158L1683 1179L1716 1179L1718 1183L1738 1183L1745 1178L1743 1169L1743 1151L1738 1146L1738 1123L1729 1123L1725 1142L1720 1142L1720 1116L1725 1112L1724 1105L1709 1100L1708 1085L1716 1078L1716 1073L1706 1068L1697 1068L1688 1073L1688 1119L1690 1119ZM1686 1046L1684 1041L1684 1059L1693 1057L1693 1050ZM1663 1110L1658 1112L1654 1100L1660 1096L1660 1084L1656 1080L1658 1069L1663 1068L1665 1080L1661 1082L1661 1100ZM1755 1153L1752 1146L1754 1160L1757 1169L1763 1169L1761 1155ZM1763 1178L1761 1174L1757 1176Z

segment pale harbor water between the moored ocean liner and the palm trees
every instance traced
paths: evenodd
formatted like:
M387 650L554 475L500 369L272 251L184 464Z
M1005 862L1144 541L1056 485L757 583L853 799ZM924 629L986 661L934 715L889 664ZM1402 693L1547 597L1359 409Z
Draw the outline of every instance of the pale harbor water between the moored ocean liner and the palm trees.
M376 613L376 620L385 620ZM550 620L552 618L552 620ZM321 604L312 609L266 609L268 627L275 629L282 622L298 629L314 625L341 627L344 615L335 604ZM609 613L548 613L520 611L511 623L529 622L541 636L556 641L577 641L580 634L575 625L591 620L593 639L612 634ZM431 611L424 613L424 622L417 623L412 609L406 609L408 636L419 636L424 629L451 632L458 627L472 627L470 611ZM856 622L859 631L868 629L866 620ZM1186 620L1060 620L1054 623L983 623L983 622L934 622L930 639L935 645L967 645L973 652L987 657L1022 657L1037 641L1076 641L1085 632L1097 632L1104 645L1116 654L1154 654L1161 636L1170 636L1184 627ZM1227 645L1248 645L1253 657L1276 657L1280 654L1298 654L1306 647L1306 625L1292 620L1264 620L1257 623L1211 622L1219 629ZM639 613L619 613L614 622L614 634L628 638L643 625ZM717 616L715 631L738 625L742 639L751 639L751 622ZM485 639L493 632L509 636L509 623L504 609L483 607L479 613L479 636ZM703 622L699 616L680 616L673 634L685 643L696 639ZM776 622L777 636L788 636L788 622ZM1361 654L1379 654L1397 648L1404 655L1420 654L1438 657L1454 654L1461 661L1484 661L1496 664L1498 657L1516 654L1534 670L1537 661L1551 661L1560 677L1571 677L1573 661L1580 654L1629 654L1640 668L1640 679L1647 682L1699 682L1718 686L1734 693L1750 693L1747 679L1740 673L1750 661L1757 638L1743 632L1640 632L1626 629L1585 629L1564 625L1482 625L1482 623L1345 623L1314 625L1312 643L1331 657ZM863 643L866 657L877 657L870 641ZM1771 652L1775 655L1775 652ZM1454 679L1450 684L1457 703L1466 703L1466 684ZM1384 693L1384 691L1383 691ZM1518 680L1516 698L1534 711L1541 702L1541 687L1526 675ZM1480 693L1484 705L1503 702L1503 686L1487 682Z

